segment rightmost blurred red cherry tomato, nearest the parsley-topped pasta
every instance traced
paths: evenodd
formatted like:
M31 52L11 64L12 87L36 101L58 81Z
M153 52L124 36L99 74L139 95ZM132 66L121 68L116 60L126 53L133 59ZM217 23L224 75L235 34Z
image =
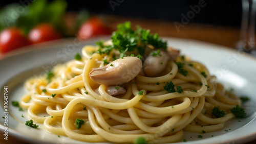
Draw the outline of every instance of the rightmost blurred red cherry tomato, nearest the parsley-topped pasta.
M103 25L97 18L91 18L84 22L78 31L78 36L81 39L88 39L96 35L109 35L111 34L110 28Z

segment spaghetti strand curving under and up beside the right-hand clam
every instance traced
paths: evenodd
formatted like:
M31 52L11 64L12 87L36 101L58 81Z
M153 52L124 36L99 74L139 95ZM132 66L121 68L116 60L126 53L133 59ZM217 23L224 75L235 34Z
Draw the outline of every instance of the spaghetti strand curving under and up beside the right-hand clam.
M145 83L157 83L157 82L162 83L162 82L166 82L166 80L173 79L177 74L178 66L173 61L168 62L167 65L169 67L171 67L172 70L165 76L151 78L151 77L145 77L145 76L138 75L136 77L136 79L139 81L145 82ZM172 75L170 75L170 74L172 74Z

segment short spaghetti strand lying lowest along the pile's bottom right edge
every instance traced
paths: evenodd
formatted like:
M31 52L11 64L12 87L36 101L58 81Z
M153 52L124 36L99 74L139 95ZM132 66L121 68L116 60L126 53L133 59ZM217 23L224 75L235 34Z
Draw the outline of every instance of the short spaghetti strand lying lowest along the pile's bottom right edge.
M190 125L188 124L183 130L184 131L190 131L190 132L196 132L196 133L203 133L205 132L210 132L210 131L217 131L221 130L224 128L225 123L220 123L217 125L211 125L211 126L195 126L195 125Z

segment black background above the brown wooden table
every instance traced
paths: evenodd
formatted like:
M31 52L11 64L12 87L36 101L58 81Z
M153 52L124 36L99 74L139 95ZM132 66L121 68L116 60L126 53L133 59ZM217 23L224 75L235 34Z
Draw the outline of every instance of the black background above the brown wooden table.
M28 0L21 0L28 1ZM34 0L35 1L35 0ZM36 0L40 1L40 0ZM2 1L0 7L13 2ZM67 11L86 9L93 14L108 14L124 17L141 17L147 19L159 19L181 22L182 15L191 11L189 6L198 5L199 1L185 0L159 0L159 1L136 1L136 0L98 0L98 1L72 1L68 0ZM119 3L118 3L119 2ZM112 3L117 3L113 8ZM241 25L241 1L205 0L206 6L200 9L189 22L203 23L207 25L240 27Z

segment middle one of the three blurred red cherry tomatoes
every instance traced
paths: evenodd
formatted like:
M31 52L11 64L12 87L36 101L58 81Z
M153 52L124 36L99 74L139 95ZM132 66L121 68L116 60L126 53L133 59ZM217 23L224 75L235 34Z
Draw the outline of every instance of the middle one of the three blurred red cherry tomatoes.
M45 42L61 37L62 36L56 32L49 23L42 23L29 32L29 40L31 43Z

